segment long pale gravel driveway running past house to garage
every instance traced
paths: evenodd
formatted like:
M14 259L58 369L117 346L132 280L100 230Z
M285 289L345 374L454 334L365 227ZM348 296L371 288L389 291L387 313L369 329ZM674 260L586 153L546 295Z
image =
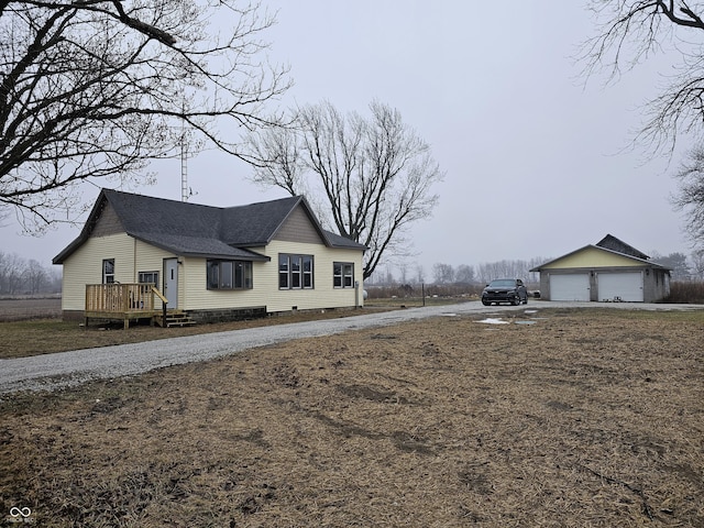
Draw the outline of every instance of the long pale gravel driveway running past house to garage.
M704 306L537 301L528 306L487 307L479 301L473 301L169 338L144 343L0 360L0 394L20 391L53 391L91 380L130 376L163 366L207 361L242 350L293 339L330 336L354 329L386 327L427 317L464 314L498 315L541 308L693 310L704 309Z

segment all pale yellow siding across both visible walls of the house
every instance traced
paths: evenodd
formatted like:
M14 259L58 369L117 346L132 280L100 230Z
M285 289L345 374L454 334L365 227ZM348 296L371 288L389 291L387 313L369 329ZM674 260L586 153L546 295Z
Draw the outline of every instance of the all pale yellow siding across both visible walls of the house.
M178 308L208 310L265 306L267 311L352 307L363 304L362 252L331 249L314 242L276 240L266 248L253 249L271 257L271 262L253 263L253 288L244 290L209 290L206 258L179 257ZM312 289L278 288L279 253L314 255ZM134 283L140 272L158 272L163 286L164 258L168 252L133 239L127 233L89 238L64 262L63 309L84 310L86 284L102 282L102 261L114 258L116 280ZM333 288L333 262L354 264L354 280L360 288ZM356 295L355 295L356 294ZM161 306L161 305L160 305Z

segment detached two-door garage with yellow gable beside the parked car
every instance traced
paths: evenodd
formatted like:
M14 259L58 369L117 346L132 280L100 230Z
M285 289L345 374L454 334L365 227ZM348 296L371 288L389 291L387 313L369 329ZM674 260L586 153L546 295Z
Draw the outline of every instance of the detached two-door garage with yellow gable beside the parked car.
M669 267L616 237L534 267L548 300L656 302L670 293Z

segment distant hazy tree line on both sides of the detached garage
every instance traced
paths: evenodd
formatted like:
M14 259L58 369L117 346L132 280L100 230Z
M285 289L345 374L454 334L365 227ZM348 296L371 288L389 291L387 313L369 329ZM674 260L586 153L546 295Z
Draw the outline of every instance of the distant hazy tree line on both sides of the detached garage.
M521 278L528 285L537 285L540 274L530 272L534 267L551 261L552 257L537 256L528 261L504 260L485 262L477 265L436 263L429 276L420 264L409 266L403 264L397 268L391 265L380 266L367 280L370 285L477 285L486 284L494 278L516 277ZM652 262L672 268L672 280L704 280L704 252L695 252L688 257L684 253L670 253L661 255L653 252ZM394 273L396 272L396 273Z

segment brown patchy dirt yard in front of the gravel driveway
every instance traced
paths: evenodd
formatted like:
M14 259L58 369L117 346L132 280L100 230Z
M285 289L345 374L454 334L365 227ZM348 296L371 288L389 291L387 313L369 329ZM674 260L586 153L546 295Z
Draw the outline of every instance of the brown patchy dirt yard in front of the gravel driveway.
M704 526L704 314L485 317L6 397L0 521Z

